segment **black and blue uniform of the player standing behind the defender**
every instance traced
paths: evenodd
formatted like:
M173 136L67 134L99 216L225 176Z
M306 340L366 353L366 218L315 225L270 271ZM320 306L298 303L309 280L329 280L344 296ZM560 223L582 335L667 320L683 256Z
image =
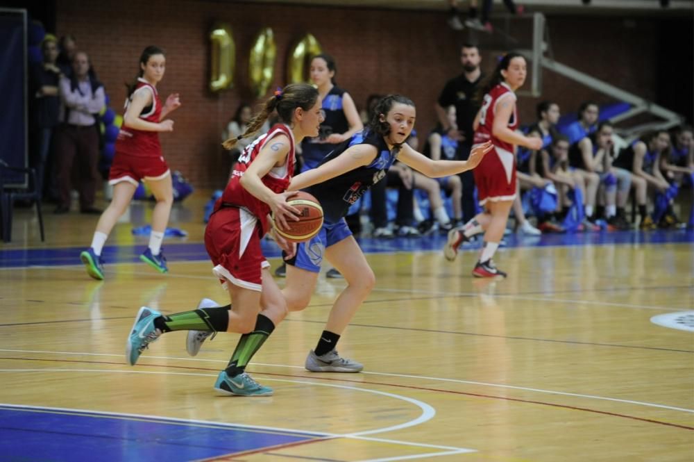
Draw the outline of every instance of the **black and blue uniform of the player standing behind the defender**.
M310 170L319 165L321 160L335 149L335 145L323 143L323 141L332 133L345 133L349 130L349 123L345 117L344 107L342 106L342 97L345 90L332 87L328 94L323 98L323 123L319 129L319 134L316 138L305 138L301 142L302 156L304 161L303 172Z

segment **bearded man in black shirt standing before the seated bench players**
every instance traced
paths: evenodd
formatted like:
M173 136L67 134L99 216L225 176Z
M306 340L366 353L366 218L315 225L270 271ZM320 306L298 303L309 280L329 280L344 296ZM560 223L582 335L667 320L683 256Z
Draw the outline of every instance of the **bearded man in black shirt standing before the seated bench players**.
M448 133L450 138L459 140L457 158L467 160L475 133L473 121L480 109L480 101L475 99L475 94L483 77L480 70L482 57L477 45L464 44L460 49L460 62L463 65L463 73L450 79L443 87L437 101L436 111L439 122L443 126L443 132ZM446 117L448 106L455 106L457 129L450 125L448 117ZM477 213L475 176L471 171L463 172L459 176L463 185L461 204L463 220L467 222Z

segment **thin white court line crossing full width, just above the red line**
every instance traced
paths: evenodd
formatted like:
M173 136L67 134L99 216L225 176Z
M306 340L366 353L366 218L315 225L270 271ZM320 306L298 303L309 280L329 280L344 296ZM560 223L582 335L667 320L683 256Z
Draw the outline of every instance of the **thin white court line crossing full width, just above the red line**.
M30 350L30 349L3 349L0 348L0 352L13 352L13 353L39 353L39 354L71 354L71 355L78 355L78 356L117 356L119 358L122 358L122 354L111 354L111 353L78 353L78 352L55 352L55 351L50 351L50 350ZM180 361L207 361L211 363L227 363L228 361L222 361L221 359L204 359L204 358L189 358L189 357L178 357L178 356L151 356L147 355L147 358L153 358L153 359L175 359L175 360L180 360ZM19 358L21 359L21 358ZM273 367L273 368L290 368L290 369L301 369L303 370L304 368L302 366L298 365L287 365L287 364L272 364L272 363L249 363L251 365L262 365L262 366L267 366L267 367ZM604 396L598 396L598 395L584 395L582 393L570 393L570 392L563 392L563 391L557 391L557 390L545 390L543 388L530 388L530 387L523 387L523 386L514 386L514 385L504 385L501 383L491 383L491 382L480 382L480 381L472 381L472 380L463 380L463 379L447 379L445 377L429 377L429 376L424 376L424 375L412 375L412 374L393 374L389 372L367 372L367 371L362 371L359 372L360 374L369 374L369 375L380 375L384 377L403 377L407 379L425 379L425 380L432 380L432 381L443 381L443 382L450 382L450 383L466 383L469 385L480 385L480 386L488 386L492 388L507 388L510 390L523 390L523 391L530 391L532 393L543 393L543 394L548 394L548 395L561 395L561 396L570 396L570 397L577 397L577 398L585 398L585 399L599 399L602 401L609 401L609 402L620 402L620 403L625 403L625 404L636 404L637 406L646 406L646 407L654 407L654 408L659 408L659 409L668 409L670 411L682 411L686 413L694 413L694 409L686 409L686 408L681 408L677 406L668 406L666 404L657 404L657 403L651 403L651 402L643 402L643 401L635 401L632 399L620 399L620 398L612 398L612 397L604 397Z

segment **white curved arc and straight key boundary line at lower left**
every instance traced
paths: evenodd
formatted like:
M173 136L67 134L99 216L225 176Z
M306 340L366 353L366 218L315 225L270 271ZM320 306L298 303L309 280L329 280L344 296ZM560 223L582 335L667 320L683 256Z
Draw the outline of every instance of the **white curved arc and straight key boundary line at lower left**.
M186 375L186 376L196 376L196 377L217 377L217 374L206 374L202 372L169 372L169 371L141 371L141 370L112 370L112 369L0 369L0 372L108 372L108 373L121 373L121 374L154 374L154 375ZM421 402L418 399L410 398L410 397L405 397L402 395L396 395L395 393L387 393L379 390L371 390L369 388L360 388L360 387L355 387L355 386L347 386L347 385L337 385L335 383L319 383L319 382L313 382L313 381L302 381L302 380L290 380L290 379L273 379L271 377L266 377L266 380L269 381L280 381L280 382L286 382L286 383L302 383L305 385L309 386L328 386L331 388L345 388L347 390L353 390L353 391L360 391L363 393L373 393L375 395L383 395L387 397L391 397L393 399L400 399L405 402L409 402L410 404L414 404L417 406L419 409L421 409L422 413L419 415L418 418L414 420L410 420L409 422L403 422L402 424L397 424L397 425L392 425L391 427L381 427L379 429L373 429L373 430L365 430L365 431L357 431L357 432L352 432L352 433L347 433L347 434L331 434L331 433L325 433L325 432L320 432L320 431L312 431L312 430L301 430L301 429L287 429L287 428L281 428L281 427L267 427L267 426L262 426L262 425L250 425L250 424L232 424L228 422L214 422L214 421L205 421L205 420L185 420L185 419L180 419L180 418L168 418L168 417L159 417L156 416L154 417L156 420L169 420L171 422L194 422L198 424L214 424L214 425L221 425L222 427L242 427L242 428L248 428L248 429L255 429L255 430L264 430L264 431L286 431L286 432L294 432L298 434L311 434L311 435L316 435L316 436L321 436L321 437L329 437L329 438L351 438L351 439L356 439L356 440L369 440L369 441L376 441L376 442L382 442L382 443L392 443L392 444L398 444L398 445L404 445L404 446L416 446L416 447L428 447L428 448L434 448L434 449L444 449L448 452L445 454L441 453L432 453L430 456L439 456L439 455L447 455L447 454L465 454L469 452L477 452L477 449L471 449L468 447L451 447L451 446L443 446L443 445L432 445L429 443L415 443L412 441L403 441L403 440L391 440L388 438L373 438L373 437L367 437L365 435L373 435L373 434L379 434L379 433L386 433L390 431L396 431L396 430L401 430L409 427L416 427L418 424L422 424L424 422L427 422L428 420L431 420L434 418L434 415L436 415L435 409L430 406L429 404L426 404L425 402ZM14 407L14 408L29 408L29 409L56 409L58 411L78 411L82 413L94 413L97 415L117 415L117 416L124 416L128 418L149 418L152 419L152 415L139 415L139 414L130 414L130 413L114 413L114 412L107 412L107 411L91 411L91 410L84 410L84 409L70 409L70 408L50 408L50 407L41 407L41 406L24 406L24 405L17 405L17 404L4 404L0 403L0 406L8 406L8 407ZM416 454L416 457L422 457L422 456L428 456L427 454ZM398 461L398 460L406 460L406 459L413 459L413 456L398 456L395 458L389 458L389 459L370 459L369 462L385 462L385 461ZM367 461L362 461L362 462L367 462Z

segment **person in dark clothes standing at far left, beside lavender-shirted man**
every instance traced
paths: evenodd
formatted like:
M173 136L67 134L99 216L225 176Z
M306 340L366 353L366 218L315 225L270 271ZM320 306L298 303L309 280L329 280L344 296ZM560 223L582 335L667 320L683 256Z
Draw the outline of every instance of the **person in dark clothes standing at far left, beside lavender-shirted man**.
M51 199L56 199L58 197L56 180L49 167L51 162L55 162L51 141L53 140L53 131L58 126L58 112L60 110L58 84L61 73L56 65L58 42L54 35L46 35L41 42L41 51L43 62L31 68L32 129L35 133L33 138L37 140L32 164L36 169L37 190L40 191L41 195L45 193ZM49 186L47 191L44 187L46 184Z

